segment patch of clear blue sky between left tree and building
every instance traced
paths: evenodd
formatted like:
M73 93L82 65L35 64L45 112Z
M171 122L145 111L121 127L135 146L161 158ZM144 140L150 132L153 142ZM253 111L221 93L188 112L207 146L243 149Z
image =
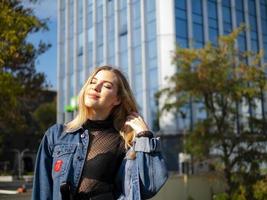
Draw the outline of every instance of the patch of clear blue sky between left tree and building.
M36 16L40 19L49 18L49 31L31 34L28 38L33 44L38 44L40 40L50 43L52 47L39 56L36 62L36 69L44 72L47 81L56 90L56 73L57 73L57 0L39 0L36 4L29 4L27 1L24 5L31 7Z

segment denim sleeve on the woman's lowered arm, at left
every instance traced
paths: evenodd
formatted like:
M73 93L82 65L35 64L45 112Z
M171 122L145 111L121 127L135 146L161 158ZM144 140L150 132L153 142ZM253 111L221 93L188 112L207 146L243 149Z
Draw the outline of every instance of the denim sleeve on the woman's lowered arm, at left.
M37 153L32 200L51 200L53 194L52 154L49 143L51 128L45 133Z

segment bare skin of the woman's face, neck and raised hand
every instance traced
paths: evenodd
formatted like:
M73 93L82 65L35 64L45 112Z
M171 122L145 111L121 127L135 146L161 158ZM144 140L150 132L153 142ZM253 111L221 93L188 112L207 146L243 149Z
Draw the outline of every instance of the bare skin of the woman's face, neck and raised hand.
M121 103L118 93L118 80L116 75L108 70L101 70L87 86L84 103L90 107L91 120L104 120L110 114L112 108ZM131 113L125 122L136 134L149 130L148 125L138 113Z

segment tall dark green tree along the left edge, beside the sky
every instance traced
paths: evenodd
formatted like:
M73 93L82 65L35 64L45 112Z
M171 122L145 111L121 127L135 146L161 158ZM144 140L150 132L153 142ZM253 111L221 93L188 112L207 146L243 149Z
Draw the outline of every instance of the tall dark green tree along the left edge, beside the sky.
M46 23L20 0L0 1L0 137L35 131L31 113L48 86L35 62L50 45L40 41L36 47L27 38L48 30Z

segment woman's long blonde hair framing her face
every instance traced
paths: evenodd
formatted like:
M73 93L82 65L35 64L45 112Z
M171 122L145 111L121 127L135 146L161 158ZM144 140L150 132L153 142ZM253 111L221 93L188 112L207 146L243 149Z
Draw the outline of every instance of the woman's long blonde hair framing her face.
M95 68L95 70L88 77L87 81L83 85L78 95L78 113L77 116L66 124L66 131L72 131L81 127L88 119L90 114L90 108L85 106L84 94L87 86L90 84L93 77L101 70L107 70L113 72L117 77L118 82L118 97L120 104L114 106L111 110L110 115L113 119L114 128L119 131L120 135L125 141L125 147L130 147L134 139L134 131L130 127L124 126L127 116L132 112L137 111L137 104L132 94L129 83L123 73L118 69L104 65Z

